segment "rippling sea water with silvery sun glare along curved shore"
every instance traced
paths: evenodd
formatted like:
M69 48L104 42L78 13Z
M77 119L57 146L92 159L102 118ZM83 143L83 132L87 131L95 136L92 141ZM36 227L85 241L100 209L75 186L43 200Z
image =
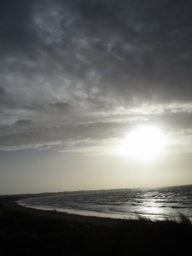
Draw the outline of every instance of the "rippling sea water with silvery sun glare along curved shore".
M192 220L192 185L156 189L115 189L28 198L25 207L109 218L178 218Z

